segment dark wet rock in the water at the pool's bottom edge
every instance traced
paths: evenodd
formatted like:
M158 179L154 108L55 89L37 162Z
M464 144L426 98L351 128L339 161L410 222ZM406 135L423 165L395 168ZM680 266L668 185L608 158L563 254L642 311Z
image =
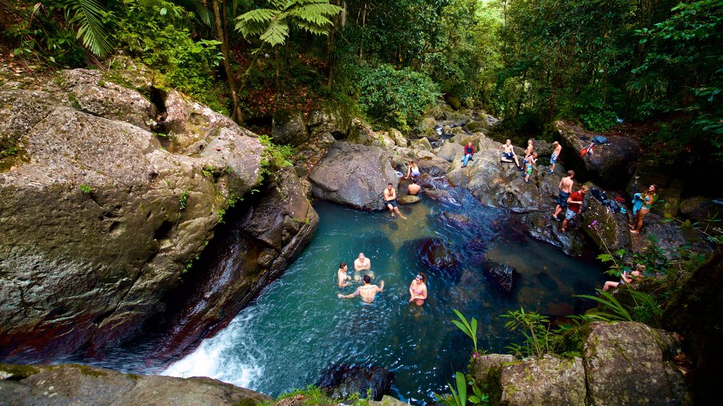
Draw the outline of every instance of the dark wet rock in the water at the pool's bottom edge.
M378 366L338 365L322 373L317 386L334 399L348 399L354 394L380 401L389 393L394 373Z

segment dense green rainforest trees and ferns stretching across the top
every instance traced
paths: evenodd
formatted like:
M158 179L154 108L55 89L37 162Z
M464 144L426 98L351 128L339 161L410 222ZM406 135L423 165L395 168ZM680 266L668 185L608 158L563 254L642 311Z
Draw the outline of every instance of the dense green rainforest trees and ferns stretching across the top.
M72 67L132 53L163 73L161 85L221 111L238 92L247 117L333 99L378 126L408 129L444 94L519 132L539 133L557 118L593 131L646 121L659 129L646 147L671 165L723 159L723 0L0 0L0 7L17 56ZM226 69L221 61L230 62Z

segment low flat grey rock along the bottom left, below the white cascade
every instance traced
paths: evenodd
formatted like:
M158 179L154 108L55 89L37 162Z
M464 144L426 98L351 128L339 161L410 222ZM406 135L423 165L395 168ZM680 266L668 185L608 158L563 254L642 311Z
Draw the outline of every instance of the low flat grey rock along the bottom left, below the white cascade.
M0 404L254 406L271 397L210 378L134 375L75 364L0 364Z

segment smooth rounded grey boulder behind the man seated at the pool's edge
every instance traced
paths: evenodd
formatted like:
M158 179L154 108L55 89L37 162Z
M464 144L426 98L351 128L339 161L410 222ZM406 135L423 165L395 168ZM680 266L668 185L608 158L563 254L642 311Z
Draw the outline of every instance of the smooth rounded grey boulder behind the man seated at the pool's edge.
M309 173L317 199L362 210L384 210L387 183L397 189L397 177L388 154L378 147L347 142L333 144Z

